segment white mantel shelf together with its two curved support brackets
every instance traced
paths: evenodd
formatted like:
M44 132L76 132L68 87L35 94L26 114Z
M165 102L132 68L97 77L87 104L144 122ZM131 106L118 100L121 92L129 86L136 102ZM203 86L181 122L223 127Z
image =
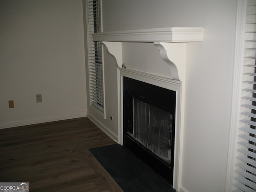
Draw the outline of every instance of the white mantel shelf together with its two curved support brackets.
M122 42L152 42L157 46L161 58L170 66L170 78L182 81L184 63L174 62L178 55L185 56L187 42L200 42L203 37L201 27L169 27L142 30L124 30L92 34L93 40L103 42L108 52L116 59L118 67L122 67ZM179 54L174 50L179 49ZM182 47L182 48L181 48ZM178 74L179 72L179 74Z

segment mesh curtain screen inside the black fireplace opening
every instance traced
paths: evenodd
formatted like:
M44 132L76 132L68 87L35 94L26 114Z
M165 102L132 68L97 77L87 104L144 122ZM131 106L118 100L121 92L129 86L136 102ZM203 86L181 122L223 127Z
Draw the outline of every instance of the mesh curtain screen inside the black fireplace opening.
M133 98L133 137L170 163L172 114Z

